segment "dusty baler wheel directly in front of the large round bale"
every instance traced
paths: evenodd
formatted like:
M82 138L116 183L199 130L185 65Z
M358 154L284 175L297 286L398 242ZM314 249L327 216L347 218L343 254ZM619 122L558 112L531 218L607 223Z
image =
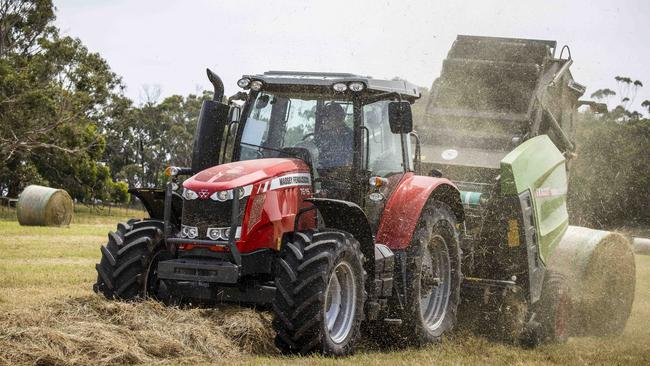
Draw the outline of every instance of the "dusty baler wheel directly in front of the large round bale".
M524 333L522 344L536 347L566 343L571 319L571 292L564 275L552 270L546 272L542 294L532 308L532 321L536 324Z

